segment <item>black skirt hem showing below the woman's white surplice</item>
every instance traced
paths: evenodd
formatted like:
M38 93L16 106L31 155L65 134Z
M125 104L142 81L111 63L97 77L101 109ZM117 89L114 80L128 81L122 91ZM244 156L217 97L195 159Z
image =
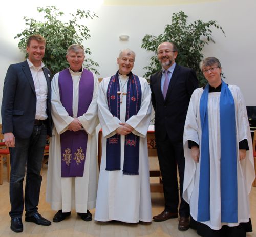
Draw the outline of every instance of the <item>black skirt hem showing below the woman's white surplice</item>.
M222 226L220 230L213 230L209 226L195 221L190 217L190 228L197 230L197 234L204 237L245 237L246 232L252 232L251 219L238 226Z

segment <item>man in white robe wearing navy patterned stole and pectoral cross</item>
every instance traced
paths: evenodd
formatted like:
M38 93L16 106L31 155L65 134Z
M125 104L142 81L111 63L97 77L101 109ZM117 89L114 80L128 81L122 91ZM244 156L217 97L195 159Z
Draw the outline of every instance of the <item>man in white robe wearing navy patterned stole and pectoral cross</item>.
M104 78L98 92L102 157L95 220L151 222L146 134L151 119L151 91L134 75L135 53L122 50L119 70Z

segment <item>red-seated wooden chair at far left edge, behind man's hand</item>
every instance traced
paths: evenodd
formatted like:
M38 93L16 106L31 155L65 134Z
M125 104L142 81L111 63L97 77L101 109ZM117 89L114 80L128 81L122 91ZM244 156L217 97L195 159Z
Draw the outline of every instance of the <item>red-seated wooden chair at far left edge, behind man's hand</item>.
M10 182L10 152L9 148L6 147L5 143L2 141L4 139L4 135L2 134L2 124L0 124L0 185L3 184L3 168L4 164L7 167L7 181Z

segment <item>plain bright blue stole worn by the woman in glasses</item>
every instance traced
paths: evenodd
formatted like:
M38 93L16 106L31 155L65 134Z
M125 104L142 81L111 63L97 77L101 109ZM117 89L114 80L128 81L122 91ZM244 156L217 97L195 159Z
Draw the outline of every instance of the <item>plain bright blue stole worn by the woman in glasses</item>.
M200 99L200 119L202 127L201 163L197 221L210 220L210 156L208 126L208 94L206 85ZM238 222L237 190L237 141L236 111L233 96L222 81L220 96L221 132L221 222ZM215 190L211 190L214 192Z

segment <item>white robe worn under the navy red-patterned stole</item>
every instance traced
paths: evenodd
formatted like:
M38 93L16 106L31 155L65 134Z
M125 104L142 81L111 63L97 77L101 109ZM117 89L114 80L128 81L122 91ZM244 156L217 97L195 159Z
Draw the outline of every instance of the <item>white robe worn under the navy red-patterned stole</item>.
M127 76L119 75L120 90ZM126 95L120 104L120 120L109 111L107 88L110 77L100 83L98 92L98 116L102 127L102 158L95 210L96 221L117 220L128 223L139 221L151 222L150 178L147 152L147 130L151 119L151 91L147 81L139 77L142 99L137 115L126 121L134 128L135 135L140 136L139 175L123 175L124 137L121 135L121 170L106 171L106 139L116 134L119 122L125 122ZM127 83L124 85L126 92Z

